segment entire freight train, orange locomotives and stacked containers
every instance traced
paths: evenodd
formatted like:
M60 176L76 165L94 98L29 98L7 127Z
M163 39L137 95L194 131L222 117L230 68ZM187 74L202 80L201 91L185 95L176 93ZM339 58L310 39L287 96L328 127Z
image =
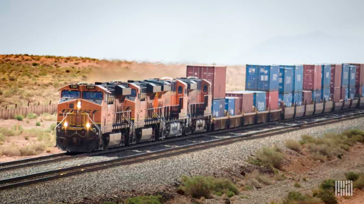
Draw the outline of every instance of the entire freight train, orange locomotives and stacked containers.
M186 78L70 84L60 89L56 145L91 152L364 106L363 94L315 99L315 73L324 74L315 67L247 65L248 90L233 92L225 92L224 66L187 66ZM334 65L330 73L335 68L342 69ZM342 81L341 73L329 82ZM290 85L293 78L296 84ZM302 84L305 79L308 84Z

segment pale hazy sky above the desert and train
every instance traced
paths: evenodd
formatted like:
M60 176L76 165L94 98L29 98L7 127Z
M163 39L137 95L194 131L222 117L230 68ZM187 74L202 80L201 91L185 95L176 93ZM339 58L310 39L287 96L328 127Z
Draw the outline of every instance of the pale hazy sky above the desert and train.
M0 53L217 64L364 62L363 0L0 0Z

